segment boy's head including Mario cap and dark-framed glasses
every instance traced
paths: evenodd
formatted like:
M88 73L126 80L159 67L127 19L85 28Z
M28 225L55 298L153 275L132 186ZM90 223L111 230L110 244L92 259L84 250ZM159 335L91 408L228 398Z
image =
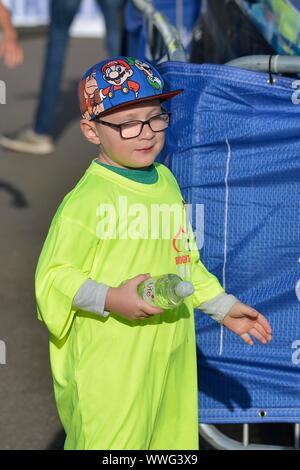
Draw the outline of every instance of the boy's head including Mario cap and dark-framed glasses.
M169 125L161 103L182 91L164 92L163 87L153 65L132 57L107 59L83 75L81 130L91 143L100 145L103 162L129 168L153 163Z

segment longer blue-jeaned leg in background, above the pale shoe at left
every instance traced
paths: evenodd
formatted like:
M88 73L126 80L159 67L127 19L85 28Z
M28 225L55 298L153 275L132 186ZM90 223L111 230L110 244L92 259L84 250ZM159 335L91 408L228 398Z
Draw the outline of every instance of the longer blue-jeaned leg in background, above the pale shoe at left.
M55 109L64 69L69 29L81 0L52 0L50 26L34 130L53 134Z

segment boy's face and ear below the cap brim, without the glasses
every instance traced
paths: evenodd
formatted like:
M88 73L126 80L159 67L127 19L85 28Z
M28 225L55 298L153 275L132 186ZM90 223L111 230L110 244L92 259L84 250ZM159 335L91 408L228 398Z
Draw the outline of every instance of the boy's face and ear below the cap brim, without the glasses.
M130 106L103 116L100 120L123 124L129 121L145 121L162 112L160 101L153 100ZM132 139L121 137L118 129L93 121L81 121L85 137L94 144L100 144L99 160L121 168L143 168L151 165L164 146L164 132L153 132L145 124L141 134Z

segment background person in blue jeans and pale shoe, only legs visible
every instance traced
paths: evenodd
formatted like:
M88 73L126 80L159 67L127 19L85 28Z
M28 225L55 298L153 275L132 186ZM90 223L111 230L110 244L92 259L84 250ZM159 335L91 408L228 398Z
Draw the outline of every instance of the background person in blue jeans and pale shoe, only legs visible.
M96 0L106 25L106 48L118 55L121 47L122 0ZM52 0L44 71L36 116L32 127L0 136L0 145L15 152L47 155L55 150L55 111L69 42L69 32L81 0Z

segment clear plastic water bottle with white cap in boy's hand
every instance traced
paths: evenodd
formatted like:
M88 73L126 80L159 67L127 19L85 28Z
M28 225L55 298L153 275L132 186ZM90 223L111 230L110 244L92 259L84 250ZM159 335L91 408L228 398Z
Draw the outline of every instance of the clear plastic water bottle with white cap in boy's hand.
M164 274L146 279L138 285L139 296L148 304L162 309L172 309L192 295L194 286L177 274Z

